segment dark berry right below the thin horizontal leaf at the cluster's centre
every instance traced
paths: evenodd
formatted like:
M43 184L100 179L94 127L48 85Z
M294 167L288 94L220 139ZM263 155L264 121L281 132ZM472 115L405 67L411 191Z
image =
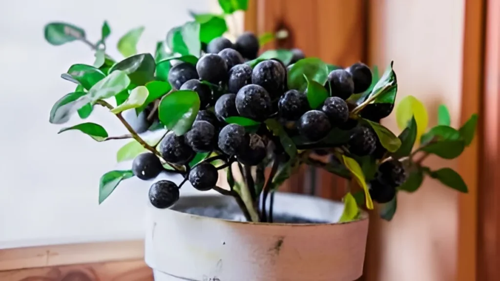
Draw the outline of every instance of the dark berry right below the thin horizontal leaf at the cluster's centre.
M241 155L248 145L248 134L238 124L225 125L218 136L218 147L227 155Z

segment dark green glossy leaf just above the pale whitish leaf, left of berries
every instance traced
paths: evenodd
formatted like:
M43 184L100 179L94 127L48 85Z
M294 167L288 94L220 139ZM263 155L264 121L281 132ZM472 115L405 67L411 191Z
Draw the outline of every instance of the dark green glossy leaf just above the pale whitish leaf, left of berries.
M128 74L132 85L142 86L147 82L154 80L155 69L156 63L154 62L153 56L149 53L141 53L116 62L113 66L111 66L111 68L109 68L108 73L112 73L116 70L122 70Z

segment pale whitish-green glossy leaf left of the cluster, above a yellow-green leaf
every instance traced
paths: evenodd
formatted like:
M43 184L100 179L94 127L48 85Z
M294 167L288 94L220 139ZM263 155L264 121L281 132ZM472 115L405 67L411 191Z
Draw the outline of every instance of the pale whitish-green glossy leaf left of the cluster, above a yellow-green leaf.
M124 71L116 70L106 76L104 79L95 83L87 93L92 103L98 99L108 98L116 95L127 88L130 79Z

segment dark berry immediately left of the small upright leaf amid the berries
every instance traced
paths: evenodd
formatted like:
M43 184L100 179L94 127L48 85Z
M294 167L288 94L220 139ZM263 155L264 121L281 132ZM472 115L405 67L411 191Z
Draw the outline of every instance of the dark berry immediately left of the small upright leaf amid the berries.
M279 114L287 120L298 120L310 109L307 96L298 90L288 90L278 101Z

